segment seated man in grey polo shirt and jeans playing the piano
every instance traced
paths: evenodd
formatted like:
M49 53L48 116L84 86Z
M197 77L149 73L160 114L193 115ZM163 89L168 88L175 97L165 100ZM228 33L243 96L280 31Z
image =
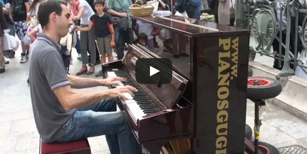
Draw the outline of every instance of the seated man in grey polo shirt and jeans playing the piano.
M123 86L92 93L74 92L94 86L119 85L121 77L104 80L67 75L56 42L68 33L72 25L64 1L41 3L38 20L43 33L31 47L30 91L37 130L45 143L70 142L91 136L105 135L112 154L140 154L124 115L116 112L114 97L127 99L122 93L136 91ZM132 94L133 95L133 94Z

